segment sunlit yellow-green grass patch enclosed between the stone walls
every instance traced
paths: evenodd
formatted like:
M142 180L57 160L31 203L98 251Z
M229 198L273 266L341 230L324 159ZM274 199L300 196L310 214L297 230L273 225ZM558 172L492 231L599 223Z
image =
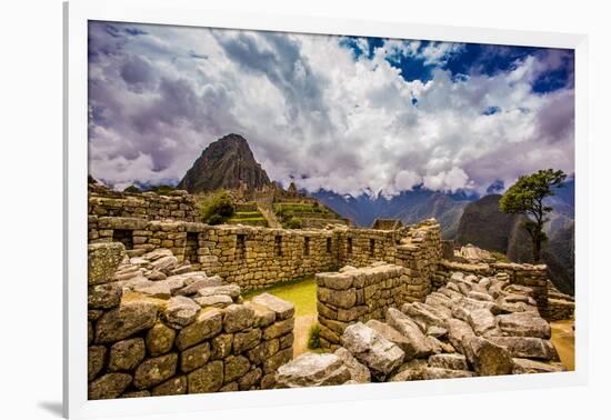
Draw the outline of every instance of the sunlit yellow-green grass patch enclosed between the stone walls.
M313 276L286 281L269 288L252 290L242 294L250 300L258 294L270 293L294 304L296 317L317 314L317 282Z

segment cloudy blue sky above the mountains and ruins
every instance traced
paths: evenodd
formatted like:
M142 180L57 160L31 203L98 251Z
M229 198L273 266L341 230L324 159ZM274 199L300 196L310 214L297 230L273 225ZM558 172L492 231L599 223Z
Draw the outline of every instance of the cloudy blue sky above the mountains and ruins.
M91 21L89 171L173 184L243 136L270 179L392 197L574 173L574 54ZM493 188L494 189L494 188Z

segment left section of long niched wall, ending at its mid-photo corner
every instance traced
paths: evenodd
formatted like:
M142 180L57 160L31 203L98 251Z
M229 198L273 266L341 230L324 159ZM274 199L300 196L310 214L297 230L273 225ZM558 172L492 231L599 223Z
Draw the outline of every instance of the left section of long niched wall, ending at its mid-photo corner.
M122 242L128 254L167 248L180 262L219 274L244 290L338 268L332 230L208 226L136 218L89 218L89 240Z

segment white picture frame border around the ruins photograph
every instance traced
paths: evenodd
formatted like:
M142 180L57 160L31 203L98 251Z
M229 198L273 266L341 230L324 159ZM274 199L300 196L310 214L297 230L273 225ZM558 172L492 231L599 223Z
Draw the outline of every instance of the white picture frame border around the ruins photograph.
M567 48L575 51L575 370L562 373L459 380L373 383L158 397L88 400L87 393L87 174L88 174L88 21L124 21L284 32L373 36ZM63 413L69 418L134 416L269 407L304 402L377 400L405 396L485 392L584 384L588 376L588 42L581 34L422 26L211 10L196 1L126 0L64 3L64 260L63 260Z

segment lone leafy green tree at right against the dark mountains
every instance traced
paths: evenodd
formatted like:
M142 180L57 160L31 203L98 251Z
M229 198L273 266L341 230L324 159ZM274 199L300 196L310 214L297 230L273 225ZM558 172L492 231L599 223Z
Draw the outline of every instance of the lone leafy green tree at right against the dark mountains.
M545 197L554 196L552 188L562 187L567 174L561 170L542 169L518 179L499 201L503 213L519 213L527 217L523 227L532 239L532 259L541 261L541 244L548 239L543 226L550 220L547 214L553 209L543 203Z

